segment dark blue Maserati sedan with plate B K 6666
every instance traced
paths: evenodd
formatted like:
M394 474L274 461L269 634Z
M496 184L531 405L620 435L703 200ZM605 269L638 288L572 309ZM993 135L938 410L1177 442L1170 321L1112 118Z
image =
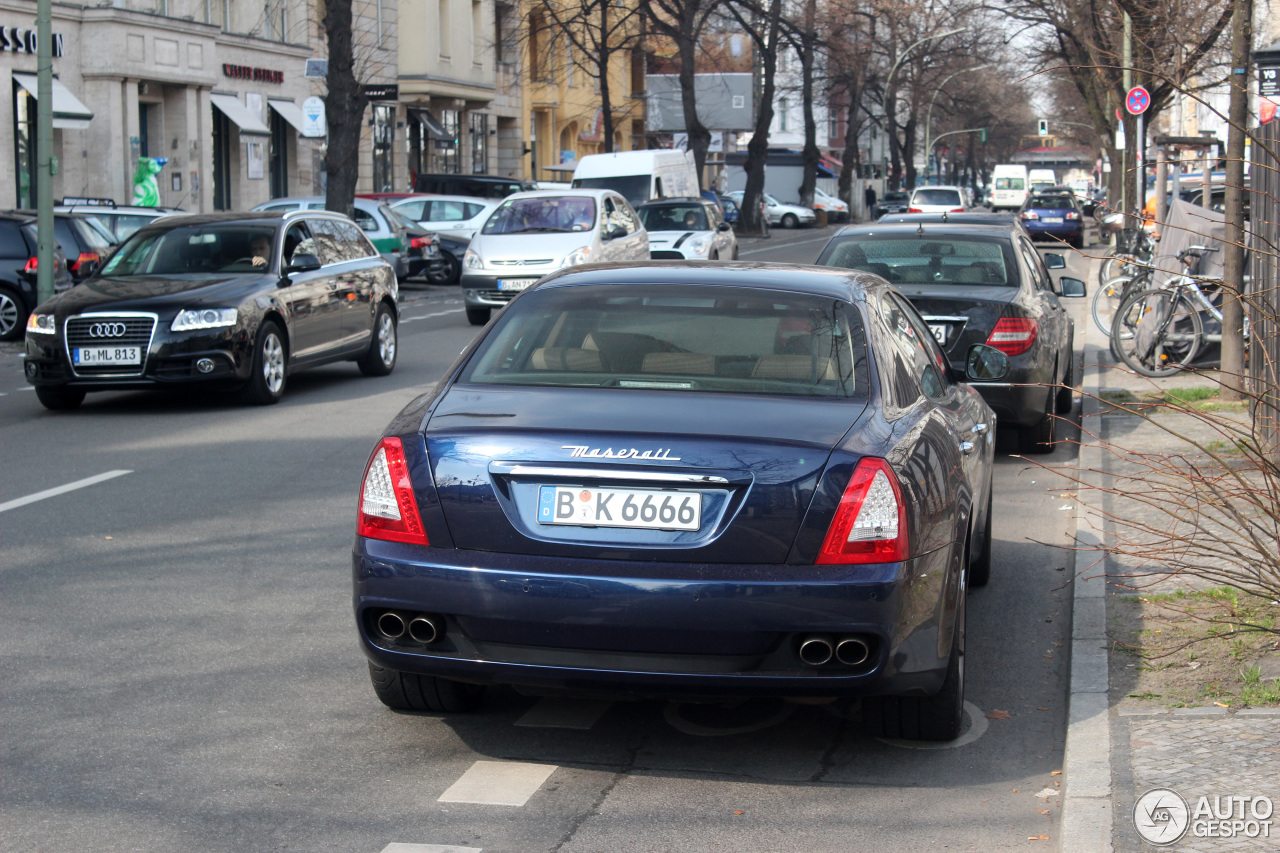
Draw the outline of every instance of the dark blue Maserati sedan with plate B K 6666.
M520 295L370 456L355 615L378 697L484 685L860 698L961 730L995 415L847 269L579 266Z

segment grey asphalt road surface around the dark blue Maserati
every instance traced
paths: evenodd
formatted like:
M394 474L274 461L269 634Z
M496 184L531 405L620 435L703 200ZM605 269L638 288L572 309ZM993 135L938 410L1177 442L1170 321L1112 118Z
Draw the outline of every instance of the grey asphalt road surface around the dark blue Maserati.
M742 259L809 261L832 231L774 231ZM1060 798L1036 794L1060 790L1071 596L1055 546L1074 497L1011 442L954 744L763 701L383 707L351 615L360 476L472 336L456 291L422 288L390 377L314 370L265 409L104 393L69 414L46 412L0 347L0 849L1056 847L1028 839L1056 835Z

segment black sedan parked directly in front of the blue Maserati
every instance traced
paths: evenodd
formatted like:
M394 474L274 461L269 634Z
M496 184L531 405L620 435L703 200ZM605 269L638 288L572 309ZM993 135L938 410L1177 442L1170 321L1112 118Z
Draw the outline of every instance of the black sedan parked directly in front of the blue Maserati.
M1053 280L1061 255L1041 260L1021 224L916 222L850 225L837 232L815 261L874 273L893 284L924 315L929 332L956 370L975 343L1009 356L1009 375L974 383L1006 426L1018 429L1019 450L1053 450L1055 415L1071 411L1075 327L1060 297L1085 295L1078 278Z

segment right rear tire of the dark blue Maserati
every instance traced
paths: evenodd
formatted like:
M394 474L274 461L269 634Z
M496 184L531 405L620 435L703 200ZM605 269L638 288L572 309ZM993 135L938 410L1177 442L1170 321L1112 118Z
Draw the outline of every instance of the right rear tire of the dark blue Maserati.
M965 555L968 558L968 555ZM968 574L968 573L966 573ZM884 695L863 701L863 726L876 738L955 740L964 726L964 635L968 584L960 579L956 625L942 689L934 695Z

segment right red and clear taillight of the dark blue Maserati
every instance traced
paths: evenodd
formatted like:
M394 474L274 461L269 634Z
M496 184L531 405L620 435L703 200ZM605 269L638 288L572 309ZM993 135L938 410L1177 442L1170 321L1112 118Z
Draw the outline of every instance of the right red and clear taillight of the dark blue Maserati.
M814 562L897 562L906 556L906 505L897 475L884 460L864 457L849 478Z

